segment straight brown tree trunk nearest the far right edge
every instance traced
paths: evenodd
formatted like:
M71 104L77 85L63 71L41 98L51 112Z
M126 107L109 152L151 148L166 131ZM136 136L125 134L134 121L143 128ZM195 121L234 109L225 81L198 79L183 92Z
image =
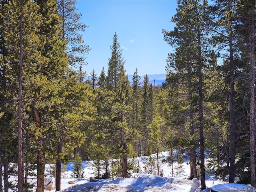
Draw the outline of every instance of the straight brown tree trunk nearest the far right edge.
M251 185L256 187L255 181L255 0L251 1L250 14L250 171Z

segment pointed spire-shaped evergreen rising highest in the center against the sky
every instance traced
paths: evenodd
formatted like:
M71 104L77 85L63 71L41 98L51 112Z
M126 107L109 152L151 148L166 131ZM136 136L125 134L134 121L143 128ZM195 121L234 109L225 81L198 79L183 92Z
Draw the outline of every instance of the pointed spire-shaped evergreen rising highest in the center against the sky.
M106 89L114 93L112 103L113 115L115 120L115 129L119 132L120 138L120 154L122 177L127 177L127 146L126 135L124 130L127 129L126 115L128 114L128 102L130 100L130 82L125 74L124 61L122 58L122 50L118 42L117 34L114 34L113 44L110 46L111 57L108 59L108 76L106 77Z

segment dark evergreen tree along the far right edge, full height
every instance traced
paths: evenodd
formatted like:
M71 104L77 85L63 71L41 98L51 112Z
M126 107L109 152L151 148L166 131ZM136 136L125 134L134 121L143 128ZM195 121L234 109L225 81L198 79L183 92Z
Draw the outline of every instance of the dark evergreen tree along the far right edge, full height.
M244 126L241 130L250 132L250 139L246 142L250 143L250 176L244 172L245 178L243 180L250 180L252 186L256 186L255 181L255 1L239 1L238 16L240 22L238 22L236 29L239 34L238 48L241 51L241 60L244 62L240 76L242 79L241 88L244 89L246 94L241 94L244 104L244 110L246 110L246 122L248 126ZM249 29L249 30L248 30ZM243 85L242 85L243 84ZM249 91L250 90L250 91ZM245 144L245 143L244 143ZM245 144L246 145L246 144ZM244 155L244 158L248 157L248 154ZM244 161L246 162L246 161Z

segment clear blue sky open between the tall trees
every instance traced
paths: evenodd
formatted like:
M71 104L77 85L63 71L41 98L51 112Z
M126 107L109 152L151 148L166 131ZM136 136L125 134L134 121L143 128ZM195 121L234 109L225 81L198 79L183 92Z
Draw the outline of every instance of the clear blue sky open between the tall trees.
M176 0L77 0L77 12L88 26L82 33L92 49L87 55L88 74L108 70L114 33L122 46L126 74L165 74L166 58L173 48L164 41L162 29L173 30Z

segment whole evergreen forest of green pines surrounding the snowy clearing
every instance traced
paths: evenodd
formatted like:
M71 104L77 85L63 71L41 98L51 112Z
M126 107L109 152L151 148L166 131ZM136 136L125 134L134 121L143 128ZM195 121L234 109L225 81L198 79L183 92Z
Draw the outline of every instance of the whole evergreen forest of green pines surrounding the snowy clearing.
M43 192L48 163L60 190L76 154L98 178L126 178L140 172L129 159L166 150L170 164L189 159L202 189L206 172L256 187L255 0L177 3L174 30L162 30L175 51L153 86L137 68L130 84L116 33L108 69L82 71L90 45L76 0L0 1L0 192L29 191L30 177Z

